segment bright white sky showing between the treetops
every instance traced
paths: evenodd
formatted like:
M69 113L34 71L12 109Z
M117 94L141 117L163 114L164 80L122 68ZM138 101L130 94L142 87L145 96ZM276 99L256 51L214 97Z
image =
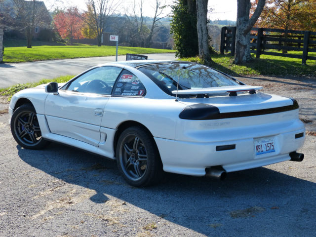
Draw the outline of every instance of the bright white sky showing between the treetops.
M79 9L85 9L85 0L43 0L46 7L49 10L58 6L59 8L69 7L69 6L78 6ZM140 0L136 0L139 2ZM173 0L165 0L166 4L172 4ZM119 7L119 12L124 14L126 8L128 9L128 2L131 0L122 0L122 4ZM143 11L145 16L153 16L155 11L153 10L153 5L155 0L144 0ZM208 17L210 20L232 20L236 21L237 17L237 0L209 0L208 8L213 10L209 12ZM167 7L164 11L164 14L169 14L171 11L170 7Z

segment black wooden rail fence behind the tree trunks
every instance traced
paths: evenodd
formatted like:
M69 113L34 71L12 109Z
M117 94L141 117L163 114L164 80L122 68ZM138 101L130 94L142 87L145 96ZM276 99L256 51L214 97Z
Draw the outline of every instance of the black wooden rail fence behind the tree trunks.
M231 52L235 54L236 27L222 27L220 53ZM261 54L274 55L289 58L316 60L315 56L308 56L309 52L316 52L316 32L292 31L270 28L251 28L250 52L255 53L257 58ZM274 50L282 50L278 53ZM284 53L285 51L301 51L302 54Z

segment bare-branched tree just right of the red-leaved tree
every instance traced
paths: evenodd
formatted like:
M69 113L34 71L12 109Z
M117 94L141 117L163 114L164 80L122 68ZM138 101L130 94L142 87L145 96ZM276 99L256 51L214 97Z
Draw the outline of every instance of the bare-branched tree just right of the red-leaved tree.
M107 26L108 18L115 13L120 2L120 0L87 0L87 6L92 10L85 11L84 15L77 14L91 29L96 30L98 46L101 46L101 36Z

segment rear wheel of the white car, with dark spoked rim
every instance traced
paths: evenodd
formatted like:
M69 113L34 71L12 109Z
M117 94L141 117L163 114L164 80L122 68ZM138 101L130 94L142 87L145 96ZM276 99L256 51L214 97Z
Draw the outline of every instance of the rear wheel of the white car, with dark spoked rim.
M144 187L157 183L162 171L154 138L144 128L125 129L118 138L117 163L126 182Z

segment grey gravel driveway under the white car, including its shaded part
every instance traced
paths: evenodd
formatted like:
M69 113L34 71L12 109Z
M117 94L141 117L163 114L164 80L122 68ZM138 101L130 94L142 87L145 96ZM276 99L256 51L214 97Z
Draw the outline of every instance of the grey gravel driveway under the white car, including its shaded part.
M56 143L22 149L0 97L0 237L316 236L316 80L240 80L298 100L302 162L133 188L112 160Z

